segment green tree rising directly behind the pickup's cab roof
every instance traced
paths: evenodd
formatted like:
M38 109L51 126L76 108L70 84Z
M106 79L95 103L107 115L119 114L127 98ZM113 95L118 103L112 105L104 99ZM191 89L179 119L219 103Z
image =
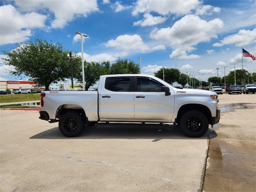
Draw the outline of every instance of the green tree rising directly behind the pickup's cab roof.
M104 64L106 67L106 63ZM136 64L132 60L121 60L118 58L116 62L114 62L110 67L107 67L108 74L139 74L140 73L140 65Z

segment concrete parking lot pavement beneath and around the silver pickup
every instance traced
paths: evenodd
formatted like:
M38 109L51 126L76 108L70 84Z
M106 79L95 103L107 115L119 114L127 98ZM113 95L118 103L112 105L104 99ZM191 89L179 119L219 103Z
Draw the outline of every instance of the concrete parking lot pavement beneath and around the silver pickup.
M219 96L220 124L201 138L187 138L172 124L98 124L66 138L58 123L38 119L36 111L0 111L0 191L208 192L228 191L221 186L232 189L233 182L249 191L255 188L255 95L233 108L222 102L228 96Z

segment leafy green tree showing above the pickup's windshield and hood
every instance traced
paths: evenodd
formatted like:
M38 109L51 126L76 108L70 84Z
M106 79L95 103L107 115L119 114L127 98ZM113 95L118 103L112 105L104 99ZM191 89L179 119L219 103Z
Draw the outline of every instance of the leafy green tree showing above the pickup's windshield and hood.
M178 82L180 77L180 70L174 69L174 68L164 68L164 76L163 76L163 68L161 68L154 74L156 77L160 79L164 79L166 82L172 85L174 82Z

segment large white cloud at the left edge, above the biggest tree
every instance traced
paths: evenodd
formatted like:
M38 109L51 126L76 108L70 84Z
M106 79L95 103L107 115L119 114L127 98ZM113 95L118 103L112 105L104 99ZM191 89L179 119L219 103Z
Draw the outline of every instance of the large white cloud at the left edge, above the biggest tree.
M23 42L32 35L32 29L43 28L46 16L31 12L19 13L12 5L0 6L0 45Z

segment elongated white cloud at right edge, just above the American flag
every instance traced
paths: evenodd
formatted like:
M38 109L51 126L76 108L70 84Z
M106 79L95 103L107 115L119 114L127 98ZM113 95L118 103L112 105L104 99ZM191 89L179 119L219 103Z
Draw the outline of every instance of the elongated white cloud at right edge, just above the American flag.
M235 46L246 46L256 43L256 28L254 30L240 30L237 34L225 37L220 43L214 43L213 46L220 47L227 44Z

